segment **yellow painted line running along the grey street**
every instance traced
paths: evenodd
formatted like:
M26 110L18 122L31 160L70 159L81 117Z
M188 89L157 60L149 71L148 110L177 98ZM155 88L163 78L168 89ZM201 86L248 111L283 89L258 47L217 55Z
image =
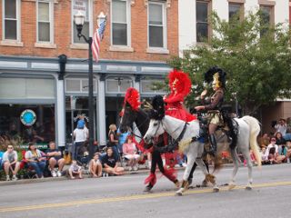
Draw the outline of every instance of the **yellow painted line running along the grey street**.
M282 186L282 185L291 185L291 182L257 183L257 184L253 184L253 188L265 188L265 187ZM236 186L235 189L237 190L237 189L245 189L245 188L246 186ZM228 187L227 186L221 187L220 192L222 191L223 192L228 191ZM207 189L202 189L202 190L187 190L186 194L212 193L212 192L213 192L212 188L207 188ZM15 207L0 208L0 213L29 211L29 210L55 208L55 207L67 207L67 206L82 205L82 204L111 203L111 202L143 200L143 199L152 199L152 198L161 198L161 197L173 197L175 196L175 194L176 194L175 192L144 193L144 194L135 194L131 196L81 200L81 201L67 202L67 203L44 203L44 204L36 204L36 205L29 205L29 206L15 206Z

